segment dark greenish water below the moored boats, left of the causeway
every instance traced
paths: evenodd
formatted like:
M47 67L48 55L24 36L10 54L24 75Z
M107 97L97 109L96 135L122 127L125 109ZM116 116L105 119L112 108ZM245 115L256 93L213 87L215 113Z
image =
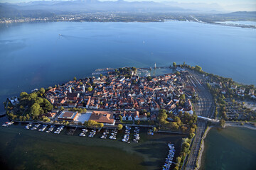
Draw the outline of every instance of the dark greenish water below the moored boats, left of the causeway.
M0 126L1 169L160 169L168 154L167 142L174 143L176 155L180 152L184 135L146 135L141 129L141 141L121 142L124 132L116 140L102 140L102 132L94 138L26 130L24 125ZM4 166L4 168L3 168Z

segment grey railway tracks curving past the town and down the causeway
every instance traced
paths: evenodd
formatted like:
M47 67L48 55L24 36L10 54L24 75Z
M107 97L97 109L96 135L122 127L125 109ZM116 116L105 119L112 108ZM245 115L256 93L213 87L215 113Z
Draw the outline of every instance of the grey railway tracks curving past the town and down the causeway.
M201 74L197 74L191 70L188 70L188 81L191 86L194 86L196 93L198 94L198 103L194 104L196 115L201 115L206 118L212 118L213 115L213 96L208 91L206 84L203 82ZM188 157L185 169L191 170L196 168L196 159L198 157L199 149L201 146L201 139L203 133L206 130L207 122L205 120L197 121L196 136L194 138L193 145L191 147L191 154Z

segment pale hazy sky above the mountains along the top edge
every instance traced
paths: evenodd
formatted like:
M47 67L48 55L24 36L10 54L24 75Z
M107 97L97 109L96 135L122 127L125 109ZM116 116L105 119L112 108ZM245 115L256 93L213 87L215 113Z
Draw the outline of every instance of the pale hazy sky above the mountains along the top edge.
M0 2L18 3L38 0L0 0ZM52 0L46 0L52 1ZM68 1L68 0L63 0ZM99 0L99 1L117 1L117 0ZM124 0L124 1L176 1L178 3L206 3L218 4L227 10L233 11L256 11L256 0Z

